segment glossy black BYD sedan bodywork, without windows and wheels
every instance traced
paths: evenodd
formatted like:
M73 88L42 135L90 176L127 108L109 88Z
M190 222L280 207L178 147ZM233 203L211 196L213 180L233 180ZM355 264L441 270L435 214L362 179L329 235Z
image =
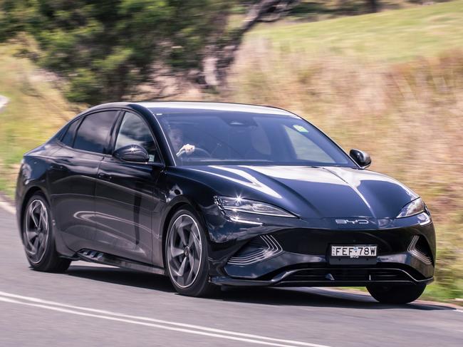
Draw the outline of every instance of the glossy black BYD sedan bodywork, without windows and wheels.
M102 153L63 143L73 121L103 112L114 124ZM113 155L115 133L126 112L138 115L150 128L160 156L157 162L127 162ZM364 170L350 158L347 167L179 165L160 118L207 112L298 118L279 108L222 103L110 103L90 108L24 156L16 192L20 229L29 198L40 191L51 207L61 257L165 274L170 219L188 206L205 231L212 284L365 286L432 281L435 230L429 211L397 218L418 198L415 192ZM292 216L230 219L217 197L265 202ZM331 257L333 244L375 244L378 255Z

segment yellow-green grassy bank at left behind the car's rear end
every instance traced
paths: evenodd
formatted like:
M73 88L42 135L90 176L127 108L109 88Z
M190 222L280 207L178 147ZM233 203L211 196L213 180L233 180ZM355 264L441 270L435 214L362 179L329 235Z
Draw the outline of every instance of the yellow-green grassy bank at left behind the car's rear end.
M0 95L9 103L0 111L0 190L13 196L21 157L76 113L55 88L51 74L26 58L20 46L0 45Z

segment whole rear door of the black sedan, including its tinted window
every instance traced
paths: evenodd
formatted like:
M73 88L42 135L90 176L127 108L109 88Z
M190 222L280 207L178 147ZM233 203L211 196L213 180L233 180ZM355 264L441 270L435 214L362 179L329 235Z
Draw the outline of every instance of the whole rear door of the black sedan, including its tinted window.
M118 111L91 113L68 126L48 175L53 223L67 247L93 249L95 182Z

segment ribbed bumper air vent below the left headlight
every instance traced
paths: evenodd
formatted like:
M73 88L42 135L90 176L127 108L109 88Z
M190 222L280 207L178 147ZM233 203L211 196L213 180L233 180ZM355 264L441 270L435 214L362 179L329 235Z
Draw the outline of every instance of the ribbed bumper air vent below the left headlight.
M256 240L257 241L257 240ZM261 235L260 242L251 242L247 247L231 257L228 261L230 265L249 265L264 259L275 257L283 252L280 244L271 235Z

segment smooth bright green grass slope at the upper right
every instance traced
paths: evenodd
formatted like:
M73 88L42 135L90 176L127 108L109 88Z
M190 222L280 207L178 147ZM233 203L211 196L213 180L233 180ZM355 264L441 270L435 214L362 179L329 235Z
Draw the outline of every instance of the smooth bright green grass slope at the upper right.
M256 40L308 57L321 53L385 61L430 57L463 48L463 1L313 23L261 24L245 44L252 46Z

